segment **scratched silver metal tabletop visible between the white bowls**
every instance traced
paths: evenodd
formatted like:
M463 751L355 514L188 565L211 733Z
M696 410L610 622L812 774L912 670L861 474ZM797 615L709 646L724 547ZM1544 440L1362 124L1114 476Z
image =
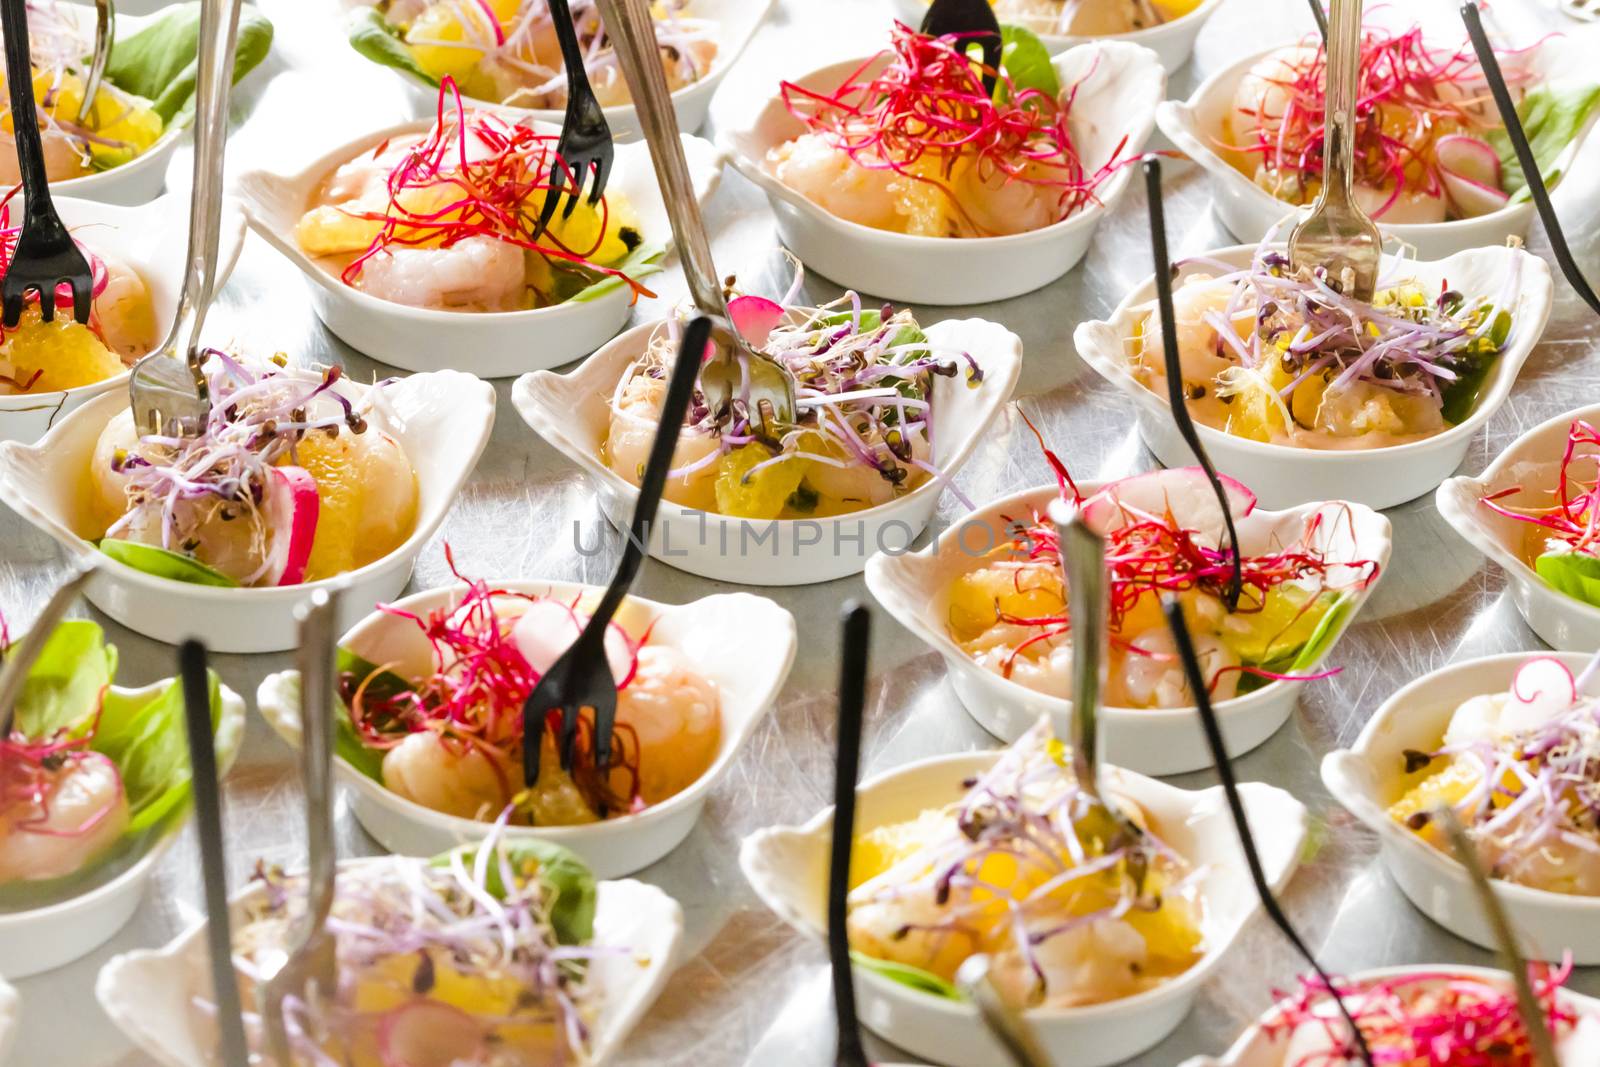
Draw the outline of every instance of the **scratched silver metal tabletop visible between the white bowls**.
M1498 22L1515 38L1536 35L1558 16L1536 0L1496 0ZM266 67L235 98L235 133L229 166L270 162L291 170L365 130L403 117L397 83L344 45L336 11L322 0L262 0L277 24L277 46ZM1406 0L1430 19L1451 22L1451 5ZM750 53L733 72L725 93L770 93L776 74L798 74L845 54L862 54L882 40L890 0L784 0ZM1195 61L1179 72L1173 94L1187 94L1210 70L1245 50L1299 35L1310 26L1293 0L1229 0L1200 38ZM1600 150L1600 144L1590 146ZM187 155L171 178L187 184ZM1136 182L1138 184L1138 182ZM1600 203L1595 189L1563 187L1557 197L1571 221L1570 238L1586 267L1597 269ZM1232 243L1210 213L1200 174L1170 166L1166 211L1176 256ZM709 222L718 266L747 280L766 278L778 288L781 259L763 197L730 174L715 197ZM1133 192L1102 226L1083 266L1046 290L990 307L923 309L923 322L946 315L984 315L1018 331L1026 363L1018 398L1080 477L1099 478L1152 466L1133 430L1133 411L1078 362L1070 346L1082 318L1110 310L1149 272L1142 195ZM1536 232L1533 246L1544 251ZM339 344L310 314L299 278L251 235L238 269L211 320L211 339L246 350L288 352L301 362L342 363L371 378L389 371ZM664 299L682 294L675 272L661 282ZM838 290L811 278L813 298ZM659 314L645 304L637 314ZM1510 402L1480 435L1466 470L1482 469L1523 427L1592 402L1600 336L1565 288L1546 341L1523 371ZM538 338L530 338L538 344ZM584 480L554 450L533 437L501 398L494 438L458 501L442 534L424 552L413 585L446 581L443 544L461 566L490 577L538 576L605 581L616 539L584 555L574 530L606 530ZM1037 448L1014 414L979 448L958 478L963 493L984 502L1046 477ZM962 514L947 496L939 523ZM1376 705L1402 683L1446 662L1512 649L1539 648L1517 616L1501 573L1477 557L1438 518L1432 499L1389 512L1395 553L1389 574L1339 648L1344 672L1307 686L1301 705L1275 737L1240 760L1245 779L1282 785L1326 821L1326 845L1296 875L1286 902L1302 931L1322 945L1325 963L1339 969L1418 961L1486 961L1464 942L1434 928L1398 894L1374 861L1374 843L1349 817L1331 808L1317 777L1323 752L1349 742ZM0 509L0 606L13 625L26 624L61 571L53 545ZM638 584L645 597L685 601L718 592L717 582L651 565ZM808 817L827 801L832 769L832 633L838 605L864 597L859 579L808 589L776 590L774 598L800 619L805 635L794 673L776 713L755 734L730 779L717 790L693 835L666 861L643 872L685 907L686 953L661 1001L629 1043L624 1064L738 1065L830 1062L829 997L818 945L803 942L765 912L746 888L738 867L739 840L760 825ZM85 608L86 609L86 608ZM173 649L141 638L107 619L122 649L122 681L146 683L171 673ZM246 696L283 656L219 656L224 680ZM874 681L867 715L866 773L942 752L992 747L994 742L962 712L944 681L936 654L880 616L874 638ZM1205 785L1206 774L1184 776ZM227 781L232 854L238 885L258 859L296 864L301 854L301 808L290 750L251 715L238 766ZM349 813L339 816L346 854L376 846ZM157 945L194 921L200 901L194 843L187 835L165 857L136 918L110 944L61 971L19 982L22 1030L16 1062L26 1067L142 1067L93 1001L94 974L117 952ZM1142 1056L1139 1064L1173 1064L1194 1053L1218 1053L1269 1000L1272 982L1290 981L1294 961L1270 928L1256 921L1221 976L1179 1030ZM1574 985L1600 992L1600 973ZM878 1046L883 1059L902 1059Z

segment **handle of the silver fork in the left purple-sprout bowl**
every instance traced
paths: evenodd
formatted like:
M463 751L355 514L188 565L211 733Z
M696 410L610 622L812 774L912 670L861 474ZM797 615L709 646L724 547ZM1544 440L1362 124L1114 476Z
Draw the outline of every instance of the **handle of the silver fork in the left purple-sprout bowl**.
M187 360L189 373L202 397L206 395L206 384L202 373L200 330L216 294L216 256L222 230L222 154L227 142L227 96L234 82L238 8L240 0L200 0L189 253L173 333L163 346L163 350Z

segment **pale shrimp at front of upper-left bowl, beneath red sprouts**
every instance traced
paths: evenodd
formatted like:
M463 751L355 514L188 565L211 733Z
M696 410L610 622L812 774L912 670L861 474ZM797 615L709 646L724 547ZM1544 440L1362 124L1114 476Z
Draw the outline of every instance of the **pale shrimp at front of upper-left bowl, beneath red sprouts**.
M528 307L522 248L467 237L448 248L397 248L368 259L358 288L378 299L440 310L509 312Z

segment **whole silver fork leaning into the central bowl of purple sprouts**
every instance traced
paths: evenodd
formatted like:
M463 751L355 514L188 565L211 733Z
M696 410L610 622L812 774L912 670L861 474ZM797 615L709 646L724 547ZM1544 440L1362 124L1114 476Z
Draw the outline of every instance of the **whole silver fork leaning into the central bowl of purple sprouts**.
M598 3L618 62L627 77L627 88L634 94L638 125L645 131L645 141L650 142L650 158L656 165L656 179L661 182L667 218L672 221L672 237L683 259L690 296L694 298L699 312L717 323L712 331L715 354L701 368L701 394L718 426L728 422L734 400L741 400L750 424L765 437L776 438L779 426L792 426L795 421L794 374L765 352L752 349L736 326L726 328L731 322L728 299L717 277L717 264L710 258L706 221L694 198L688 160L683 158L678 117L672 110L667 75L661 69L650 5L646 0L598 0Z

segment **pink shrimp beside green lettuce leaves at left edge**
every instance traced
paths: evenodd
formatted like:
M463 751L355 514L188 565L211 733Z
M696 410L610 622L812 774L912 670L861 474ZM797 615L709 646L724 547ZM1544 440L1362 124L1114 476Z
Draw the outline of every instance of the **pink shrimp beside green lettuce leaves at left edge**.
M42 776L45 800L0 814L0 885L82 870L128 827L128 797L107 757L82 752L58 769L27 765L22 773Z

